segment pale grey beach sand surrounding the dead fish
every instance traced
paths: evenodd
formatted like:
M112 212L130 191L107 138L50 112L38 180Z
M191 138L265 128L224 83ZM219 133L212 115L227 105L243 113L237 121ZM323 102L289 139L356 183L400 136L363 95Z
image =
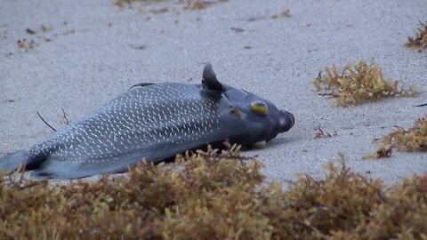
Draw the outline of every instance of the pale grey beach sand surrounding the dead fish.
M0 154L52 132L37 110L60 128L61 108L76 122L136 83L198 83L209 61L222 82L294 113L290 132L269 148L246 152L259 156L269 180L292 180L296 172L323 176L322 164L336 161L337 152L354 170L388 182L427 170L425 153L361 159L375 151L374 138L393 124L411 126L427 109L413 107L427 102L427 51L403 47L418 21L427 20L427 1L230 0L191 12L175 2L120 10L109 1L1 1ZM149 12L165 6L172 11ZM286 9L292 17L270 18ZM42 32L43 24L52 30ZM39 45L24 52L16 43L22 38ZM421 93L336 108L313 92L311 80L324 67L370 58L384 76ZM315 140L318 127L338 135Z

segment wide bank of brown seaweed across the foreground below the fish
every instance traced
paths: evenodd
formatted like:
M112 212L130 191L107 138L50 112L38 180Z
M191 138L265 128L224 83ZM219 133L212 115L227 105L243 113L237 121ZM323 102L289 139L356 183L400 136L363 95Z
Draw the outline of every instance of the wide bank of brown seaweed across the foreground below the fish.
M267 183L237 146L142 162L125 175L52 185L0 178L0 235L23 238L425 238L427 175L389 188L341 164Z

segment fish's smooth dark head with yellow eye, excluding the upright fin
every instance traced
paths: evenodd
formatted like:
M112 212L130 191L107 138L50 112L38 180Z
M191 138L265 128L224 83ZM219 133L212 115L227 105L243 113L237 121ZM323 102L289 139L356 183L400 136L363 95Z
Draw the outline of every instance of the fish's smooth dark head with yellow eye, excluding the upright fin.
M249 145L254 148L265 147L265 143L276 138L278 133L287 132L294 126L293 114L252 92L226 85L222 96L241 113L248 128L254 130L248 137Z

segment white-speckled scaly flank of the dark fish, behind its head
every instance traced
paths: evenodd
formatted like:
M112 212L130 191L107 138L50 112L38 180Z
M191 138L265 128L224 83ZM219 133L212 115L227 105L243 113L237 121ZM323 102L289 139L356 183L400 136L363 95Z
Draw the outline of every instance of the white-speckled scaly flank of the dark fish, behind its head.
M165 140L163 148L174 148L206 137L220 130L221 115L217 103L194 86L152 84L124 93L29 153L61 163L118 161L117 153L156 149Z

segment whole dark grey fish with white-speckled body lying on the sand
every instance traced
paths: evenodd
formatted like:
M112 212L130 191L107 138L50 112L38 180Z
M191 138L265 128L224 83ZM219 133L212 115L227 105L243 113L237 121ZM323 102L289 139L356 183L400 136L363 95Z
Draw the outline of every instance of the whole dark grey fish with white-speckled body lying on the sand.
M220 83L207 64L202 84L135 84L47 140L0 157L0 171L24 165L49 179L126 172L143 158L158 163L224 140L262 148L293 125L292 114Z

